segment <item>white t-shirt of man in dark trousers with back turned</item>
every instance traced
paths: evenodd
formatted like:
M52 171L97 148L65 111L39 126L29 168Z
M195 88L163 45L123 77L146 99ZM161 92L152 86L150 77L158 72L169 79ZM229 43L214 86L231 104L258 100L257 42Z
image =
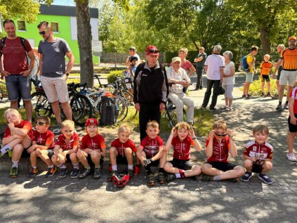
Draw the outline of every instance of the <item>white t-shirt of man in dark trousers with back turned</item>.
M223 56L219 54L211 54L206 59L206 63L204 65L207 65L207 78L210 80L221 80L221 75L219 73L220 67L225 67L225 59Z

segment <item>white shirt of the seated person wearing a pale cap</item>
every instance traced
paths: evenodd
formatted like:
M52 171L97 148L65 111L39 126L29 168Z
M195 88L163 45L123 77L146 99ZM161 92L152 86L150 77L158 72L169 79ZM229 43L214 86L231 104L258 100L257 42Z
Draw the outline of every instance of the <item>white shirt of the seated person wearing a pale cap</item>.
M184 82L189 82L190 83L190 78L186 74L186 70L182 69L181 67L179 68L178 72L175 72L173 67L170 66L166 70L166 74L167 74L168 81L170 81L170 78L172 78L172 79L175 79L176 81L184 81ZM183 89L184 89L183 85L173 84L169 88L169 91L179 94L179 93L183 92L182 91Z

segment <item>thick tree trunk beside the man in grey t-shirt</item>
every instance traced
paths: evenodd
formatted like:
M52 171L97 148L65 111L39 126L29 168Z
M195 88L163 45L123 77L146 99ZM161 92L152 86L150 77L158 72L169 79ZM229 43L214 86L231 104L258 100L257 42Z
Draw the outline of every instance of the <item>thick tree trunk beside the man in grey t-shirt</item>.
M89 0L76 0L76 23L80 51L80 83L87 83L88 87L93 87L94 65L91 51Z

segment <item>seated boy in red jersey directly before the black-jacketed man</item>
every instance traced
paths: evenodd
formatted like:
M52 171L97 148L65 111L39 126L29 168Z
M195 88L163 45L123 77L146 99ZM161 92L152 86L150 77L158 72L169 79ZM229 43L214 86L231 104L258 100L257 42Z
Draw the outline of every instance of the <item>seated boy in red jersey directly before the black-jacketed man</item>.
M166 161L166 152L164 152L163 140L158 136L159 124L156 121L149 121L146 125L146 134L148 134L140 143L137 149L137 157L142 162L148 175L148 184L155 184L154 173L151 166L159 165L159 183L165 183L164 164Z

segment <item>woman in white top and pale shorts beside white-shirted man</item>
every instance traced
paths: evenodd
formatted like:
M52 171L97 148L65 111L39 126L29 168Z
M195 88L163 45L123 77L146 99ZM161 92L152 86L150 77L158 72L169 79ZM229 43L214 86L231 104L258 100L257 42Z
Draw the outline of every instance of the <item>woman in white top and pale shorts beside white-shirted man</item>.
M231 51L225 51L223 53L225 59L225 67L223 69L223 89L225 89L225 110L230 111L232 109L233 100L233 87L235 84L235 67L234 63L231 61L233 54Z

